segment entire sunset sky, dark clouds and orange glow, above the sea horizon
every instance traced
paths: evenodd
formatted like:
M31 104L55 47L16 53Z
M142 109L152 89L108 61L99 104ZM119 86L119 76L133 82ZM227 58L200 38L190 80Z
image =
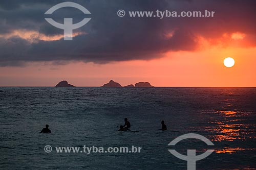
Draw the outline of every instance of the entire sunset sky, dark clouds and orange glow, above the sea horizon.
M0 2L0 86L256 86L256 1L72 1L91 14L63 8L50 16L92 18L73 30L72 41L45 20L60 2ZM119 9L215 15L132 18L118 17ZM233 67L223 65L227 57Z

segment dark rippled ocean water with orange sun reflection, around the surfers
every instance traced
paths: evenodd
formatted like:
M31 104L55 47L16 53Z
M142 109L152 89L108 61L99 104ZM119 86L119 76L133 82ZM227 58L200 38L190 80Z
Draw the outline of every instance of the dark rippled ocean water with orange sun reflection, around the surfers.
M127 117L131 130L117 132ZM167 131L160 131L165 120ZM49 124L52 133L40 134ZM168 152L215 152L197 169L256 169L256 88L0 87L0 169L186 169ZM185 139L186 133L211 140ZM44 151L51 145L51 153ZM57 153L55 147L141 147Z

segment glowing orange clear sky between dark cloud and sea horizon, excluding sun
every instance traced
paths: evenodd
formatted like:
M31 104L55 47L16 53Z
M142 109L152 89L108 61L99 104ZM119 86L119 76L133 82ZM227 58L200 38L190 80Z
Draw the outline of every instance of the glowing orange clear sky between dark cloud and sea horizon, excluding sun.
M21 34L17 31L15 34L25 39L36 34L39 39L46 41L60 38L59 35L48 39L34 32ZM172 37L173 34L170 32L165 37ZM198 36L196 51L167 52L162 58L147 61L106 64L69 62L66 65L30 62L24 67L0 67L0 86L54 86L62 80L75 86L101 86L114 80L122 86L144 81L153 86L255 87L256 47L237 46L237 41L244 42L246 37L239 32L224 34L215 40ZM226 46L227 43L230 45ZM233 58L236 65L225 67L223 60L227 57Z

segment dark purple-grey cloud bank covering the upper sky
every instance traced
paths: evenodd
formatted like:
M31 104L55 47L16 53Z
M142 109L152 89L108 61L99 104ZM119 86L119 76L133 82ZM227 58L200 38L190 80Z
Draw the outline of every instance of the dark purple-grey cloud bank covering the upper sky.
M14 30L37 31L47 36L63 34L50 25L44 14L63 1L1 1L0 37ZM29 61L84 61L106 63L161 57L167 51L193 51L197 36L217 38L223 33L243 32L255 45L255 1L73 1L86 7L92 18L74 32L85 32L73 41L29 41L20 37L0 38L0 66ZM215 11L214 18L118 17L125 11ZM55 11L51 17L79 22L85 15L74 8ZM88 15L86 16L88 17ZM173 36L166 34L173 31Z

